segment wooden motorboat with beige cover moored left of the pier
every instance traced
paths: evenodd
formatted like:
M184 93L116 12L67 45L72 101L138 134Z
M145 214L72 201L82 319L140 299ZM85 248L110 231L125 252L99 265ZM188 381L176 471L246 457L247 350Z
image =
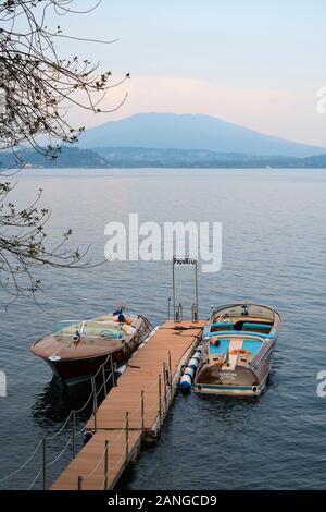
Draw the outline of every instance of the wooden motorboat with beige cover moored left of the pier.
M142 315L116 312L90 320L59 322L52 334L36 341L30 350L61 381L71 385L91 378L104 363L109 369L110 355L113 364L124 363L151 331Z

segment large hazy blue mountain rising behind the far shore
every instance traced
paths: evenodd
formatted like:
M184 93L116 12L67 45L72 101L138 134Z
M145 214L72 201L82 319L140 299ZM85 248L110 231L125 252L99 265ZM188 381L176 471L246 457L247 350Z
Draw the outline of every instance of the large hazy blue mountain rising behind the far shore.
M202 114L139 113L87 130L79 146L191 149L247 155L310 157L326 148L264 135Z

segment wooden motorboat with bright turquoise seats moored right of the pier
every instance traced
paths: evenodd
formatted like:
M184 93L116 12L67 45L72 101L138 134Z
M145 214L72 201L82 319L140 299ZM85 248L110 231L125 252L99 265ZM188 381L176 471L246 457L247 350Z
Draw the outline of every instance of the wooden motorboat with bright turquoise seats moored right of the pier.
M266 383L280 328L279 314L256 304L212 310L203 330L202 358L193 381L199 393L255 395Z

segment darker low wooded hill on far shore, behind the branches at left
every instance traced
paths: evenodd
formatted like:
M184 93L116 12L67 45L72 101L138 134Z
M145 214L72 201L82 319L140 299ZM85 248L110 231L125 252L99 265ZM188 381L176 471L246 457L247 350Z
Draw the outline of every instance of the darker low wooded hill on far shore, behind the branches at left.
M104 157L90 149L79 149L77 147L63 146L55 159L46 158L34 149L23 149L17 157L11 151L0 153L0 169L20 168L22 161L25 167L32 168L84 168L99 169L108 168Z

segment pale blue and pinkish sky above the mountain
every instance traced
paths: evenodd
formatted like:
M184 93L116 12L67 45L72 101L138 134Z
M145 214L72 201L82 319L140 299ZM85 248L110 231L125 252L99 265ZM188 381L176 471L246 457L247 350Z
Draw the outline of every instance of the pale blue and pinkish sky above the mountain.
M86 9L96 0L75 0ZM57 20L49 15L49 22ZM124 86L105 108L72 112L102 124L137 112L205 113L260 132L326 146L325 0L102 0L91 13L59 20L65 34L118 39L112 45L59 42L62 54L100 61Z

